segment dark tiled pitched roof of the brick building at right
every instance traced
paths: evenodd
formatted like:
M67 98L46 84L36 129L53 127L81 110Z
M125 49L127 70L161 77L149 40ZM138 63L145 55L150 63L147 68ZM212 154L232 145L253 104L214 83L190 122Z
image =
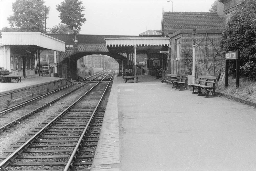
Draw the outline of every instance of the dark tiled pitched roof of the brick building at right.
M209 12L163 12L161 31L168 37L169 32L180 29L222 30L224 17Z

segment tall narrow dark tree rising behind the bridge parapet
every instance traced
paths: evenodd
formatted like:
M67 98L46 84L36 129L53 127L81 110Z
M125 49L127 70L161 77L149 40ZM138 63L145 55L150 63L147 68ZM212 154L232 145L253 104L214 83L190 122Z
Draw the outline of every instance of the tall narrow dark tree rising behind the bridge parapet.
M86 22L84 14L81 14L84 7L81 6L81 1L63 1L61 5L57 5L56 9L60 12L61 22L69 25L70 29L78 34L81 26Z

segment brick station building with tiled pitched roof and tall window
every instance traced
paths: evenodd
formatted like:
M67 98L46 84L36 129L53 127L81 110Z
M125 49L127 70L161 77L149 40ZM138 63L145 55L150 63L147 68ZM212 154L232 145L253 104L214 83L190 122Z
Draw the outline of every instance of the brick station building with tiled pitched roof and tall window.
M214 63L223 60L219 48L222 30L223 11L222 13L163 12L161 32L165 37L170 38L168 73L191 74L185 65L188 57L183 52L192 54L194 42L197 46L211 44Z

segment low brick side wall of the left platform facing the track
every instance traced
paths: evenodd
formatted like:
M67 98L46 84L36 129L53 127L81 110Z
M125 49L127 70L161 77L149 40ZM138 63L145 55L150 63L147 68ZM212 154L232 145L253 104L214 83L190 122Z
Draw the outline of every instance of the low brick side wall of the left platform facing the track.
M17 103L22 103L27 100L38 97L40 94L46 94L47 92L59 89L69 85L70 82L66 79L58 81L52 81L46 84L38 84L30 86L26 89L18 89L14 91L8 91L1 93L1 110L7 106L14 106Z

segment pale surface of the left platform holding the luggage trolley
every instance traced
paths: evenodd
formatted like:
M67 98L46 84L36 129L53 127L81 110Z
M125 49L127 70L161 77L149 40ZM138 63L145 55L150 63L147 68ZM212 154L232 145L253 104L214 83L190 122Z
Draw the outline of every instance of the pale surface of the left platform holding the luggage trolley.
M34 78L22 78L21 82L17 83L17 81L12 80L11 82L1 82L0 83L0 93L6 91L12 91L20 88L26 88L29 86L35 86L37 84L42 84L46 82L61 80L65 78L57 78L57 77L39 77L36 76Z

